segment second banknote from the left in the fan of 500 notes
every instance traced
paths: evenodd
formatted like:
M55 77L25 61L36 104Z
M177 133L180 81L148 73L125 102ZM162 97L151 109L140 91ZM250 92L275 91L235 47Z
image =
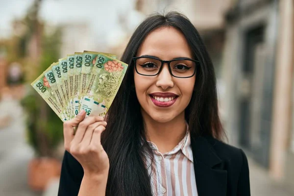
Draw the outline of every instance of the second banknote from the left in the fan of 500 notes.
M59 104L60 108L64 108L65 107L65 102L62 99L62 95L58 89L57 86L57 82L56 82L56 78L54 76L54 73L52 71L52 67L55 66L58 63L53 63L49 66L49 68L44 72L44 75L49 83L49 86L51 87L51 92L53 93L53 95L55 96L57 103Z

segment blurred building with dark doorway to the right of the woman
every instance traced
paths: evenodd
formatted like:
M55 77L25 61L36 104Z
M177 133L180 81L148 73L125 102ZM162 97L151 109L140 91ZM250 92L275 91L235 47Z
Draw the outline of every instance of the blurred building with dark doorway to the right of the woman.
M221 75L229 140L274 180L294 185L294 2L235 0L226 24Z

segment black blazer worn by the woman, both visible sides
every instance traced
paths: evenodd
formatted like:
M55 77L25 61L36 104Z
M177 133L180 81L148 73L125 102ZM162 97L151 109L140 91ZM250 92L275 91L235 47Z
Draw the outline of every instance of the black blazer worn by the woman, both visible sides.
M198 196L250 196L249 169L242 149L210 136L191 139ZM58 196L77 196L84 172L65 152Z

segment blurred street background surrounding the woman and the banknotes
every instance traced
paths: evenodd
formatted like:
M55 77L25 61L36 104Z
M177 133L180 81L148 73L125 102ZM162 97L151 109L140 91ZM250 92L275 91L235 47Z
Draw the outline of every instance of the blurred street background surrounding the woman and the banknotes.
M0 196L57 196L62 122L29 85L75 51L120 57L149 14L196 26L252 196L294 196L294 0L0 0Z

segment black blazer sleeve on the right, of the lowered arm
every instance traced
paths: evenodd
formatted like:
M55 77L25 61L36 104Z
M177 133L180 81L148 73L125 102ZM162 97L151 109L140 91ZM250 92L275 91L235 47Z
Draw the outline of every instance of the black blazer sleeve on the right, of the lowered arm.
M248 160L243 150L242 153L242 167L238 181L237 196L250 196L250 180Z

